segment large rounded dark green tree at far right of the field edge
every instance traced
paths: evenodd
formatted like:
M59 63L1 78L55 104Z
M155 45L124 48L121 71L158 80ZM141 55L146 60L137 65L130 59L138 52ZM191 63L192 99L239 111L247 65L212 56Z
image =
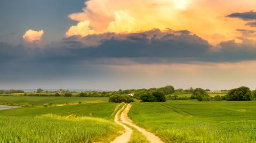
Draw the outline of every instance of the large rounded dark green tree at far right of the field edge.
M253 97L249 87L231 89L227 94L228 101L249 101L252 99Z

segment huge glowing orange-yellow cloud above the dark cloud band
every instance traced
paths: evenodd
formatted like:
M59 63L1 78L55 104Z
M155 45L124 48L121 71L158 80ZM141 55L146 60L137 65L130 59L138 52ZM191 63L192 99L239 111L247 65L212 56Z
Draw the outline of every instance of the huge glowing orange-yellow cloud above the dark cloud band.
M211 44L235 39L241 35L236 29L253 29L245 21L227 18L234 12L255 9L253 0L90 0L83 12L72 13L69 18L78 22L90 21L95 33L137 32L153 28L164 30L187 29ZM75 33L83 35L83 30Z

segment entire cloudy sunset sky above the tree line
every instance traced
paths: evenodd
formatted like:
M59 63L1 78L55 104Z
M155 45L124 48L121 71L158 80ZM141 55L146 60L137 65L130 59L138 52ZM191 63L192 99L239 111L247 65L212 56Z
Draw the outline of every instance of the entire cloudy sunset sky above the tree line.
M0 89L255 89L255 5L2 0Z

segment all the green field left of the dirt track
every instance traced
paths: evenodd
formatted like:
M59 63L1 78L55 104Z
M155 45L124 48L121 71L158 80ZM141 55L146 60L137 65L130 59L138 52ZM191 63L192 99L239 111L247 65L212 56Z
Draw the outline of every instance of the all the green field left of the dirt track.
M108 98L8 96L2 97L1 102L2 99L34 105L78 101L85 104L2 110L0 142L108 142L122 130L122 127L113 121L115 107L118 104L106 103Z

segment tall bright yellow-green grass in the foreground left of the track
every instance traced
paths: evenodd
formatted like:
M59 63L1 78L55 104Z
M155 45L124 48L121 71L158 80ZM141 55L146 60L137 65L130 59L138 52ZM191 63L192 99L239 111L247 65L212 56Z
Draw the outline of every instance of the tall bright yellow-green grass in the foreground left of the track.
M91 117L0 116L0 142L110 141L118 136L118 130L114 122Z

